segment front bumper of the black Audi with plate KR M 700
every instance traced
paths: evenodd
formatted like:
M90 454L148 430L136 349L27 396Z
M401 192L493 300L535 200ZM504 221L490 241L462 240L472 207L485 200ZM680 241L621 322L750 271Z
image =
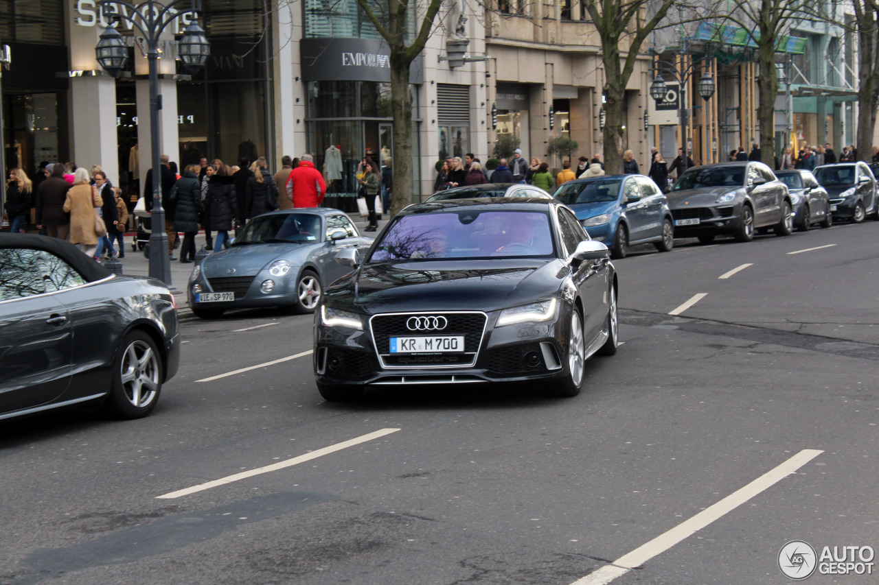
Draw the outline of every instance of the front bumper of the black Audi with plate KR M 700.
M437 312L441 313L441 312ZM554 321L518 323L494 329L498 314L488 321L475 358L461 356L458 365L448 354L410 355L390 365L380 357L373 334L365 330L329 328L316 318L314 372L316 382L334 386L460 384L472 382L557 379L567 375L569 332L560 308ZM404 332L401 332L404 333ZM407 362L408 365L401 365ZM438 364L439 362L439 364ZM473 365L469 365L472 362Z

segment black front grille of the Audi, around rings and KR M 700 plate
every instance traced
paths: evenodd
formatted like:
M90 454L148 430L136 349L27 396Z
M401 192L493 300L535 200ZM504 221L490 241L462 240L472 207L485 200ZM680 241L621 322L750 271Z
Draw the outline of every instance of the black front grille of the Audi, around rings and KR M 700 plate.
M413 316L442 316L447 319L447 326L441 330L412 331L406 326L406 321ZM476 355L483 342L487 320L484 313L474 311L377 314L369 321L369 327L372 330L375 351L381 365L385 367L469 367L476 364ZM463 352L420 355L390 353L391 337L432 335L464 336Z

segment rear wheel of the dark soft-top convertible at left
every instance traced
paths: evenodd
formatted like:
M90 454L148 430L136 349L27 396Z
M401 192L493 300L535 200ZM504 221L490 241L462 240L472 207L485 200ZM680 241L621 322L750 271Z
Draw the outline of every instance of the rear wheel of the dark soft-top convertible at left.
M162 393L162 358L156 342L143 331L122 339L113 359L113 380L104 411L119 418L142 418L156 408Z

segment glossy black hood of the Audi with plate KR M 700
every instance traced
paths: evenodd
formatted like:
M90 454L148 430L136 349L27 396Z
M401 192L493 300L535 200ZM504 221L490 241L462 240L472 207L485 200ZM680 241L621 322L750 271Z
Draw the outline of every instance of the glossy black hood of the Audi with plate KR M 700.
M326 290L332 307L367 314L493 311L555 297L570 267L561 260L467 260L366 264Z

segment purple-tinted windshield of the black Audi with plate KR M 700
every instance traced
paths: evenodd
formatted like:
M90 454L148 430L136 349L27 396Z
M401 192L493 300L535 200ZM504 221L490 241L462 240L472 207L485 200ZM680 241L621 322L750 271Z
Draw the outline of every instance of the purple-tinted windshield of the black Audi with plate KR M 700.
M369 263L439 258L550 256L547 213L477 212L404 215L384 234Z

